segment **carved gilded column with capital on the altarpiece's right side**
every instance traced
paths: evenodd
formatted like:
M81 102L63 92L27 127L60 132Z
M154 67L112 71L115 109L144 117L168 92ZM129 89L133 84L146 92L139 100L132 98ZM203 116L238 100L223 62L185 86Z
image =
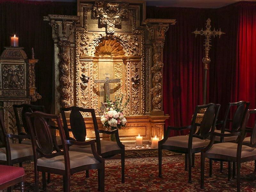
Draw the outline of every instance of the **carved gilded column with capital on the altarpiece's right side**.
M173 19L146 19L144 24L149 32L149 40L153 47L153 63L151 67L152 88L152 109L150 115L164 115L163 111L163 48L165 32L169 29L169 24L174 25Z

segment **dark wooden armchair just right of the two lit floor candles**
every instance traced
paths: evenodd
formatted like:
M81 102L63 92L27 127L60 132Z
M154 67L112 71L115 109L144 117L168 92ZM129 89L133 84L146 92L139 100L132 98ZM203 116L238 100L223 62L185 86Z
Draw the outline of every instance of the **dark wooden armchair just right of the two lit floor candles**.
M206 109L202 122L196 123L196 116L200 109ZM192 167L192 154L201 152L206 147L210 140L207 138L210 133L214 131L217 116L219 114L220 104L209 103L206 105L197 105L192 123L185 127L167 127L167 132L164 134L164 139L158 142L158 165L159 177L162 177L162 150L170 150L176 153L188 154L185 160L185 166L188 166L188 182L191 183L191 167ZM199 126L199 131L196 132L196 126ZM171 130L180 131L189 129L189 135L168 137ZM188 164L188 165L187 165Z

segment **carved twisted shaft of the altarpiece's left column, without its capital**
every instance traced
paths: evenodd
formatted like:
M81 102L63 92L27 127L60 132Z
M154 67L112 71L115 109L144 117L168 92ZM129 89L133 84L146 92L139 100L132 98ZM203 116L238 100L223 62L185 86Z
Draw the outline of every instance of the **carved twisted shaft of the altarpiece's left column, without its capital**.
M70 66L68 47L70 42L60 40L59 46L59 69L60 69L60 105L61 107L70 107Z

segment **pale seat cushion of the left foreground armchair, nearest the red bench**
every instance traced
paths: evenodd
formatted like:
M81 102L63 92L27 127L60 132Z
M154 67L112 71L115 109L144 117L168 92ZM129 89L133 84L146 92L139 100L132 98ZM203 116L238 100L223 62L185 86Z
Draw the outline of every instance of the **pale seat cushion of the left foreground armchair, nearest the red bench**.
M91 147L91 146L90 146ZM100 163L92 153L81 153L69 151L70 168L80 167L83 165ZM55 156L52 158L41 157L37 159L37 166L49 167L54 169L65 170L64 156Z

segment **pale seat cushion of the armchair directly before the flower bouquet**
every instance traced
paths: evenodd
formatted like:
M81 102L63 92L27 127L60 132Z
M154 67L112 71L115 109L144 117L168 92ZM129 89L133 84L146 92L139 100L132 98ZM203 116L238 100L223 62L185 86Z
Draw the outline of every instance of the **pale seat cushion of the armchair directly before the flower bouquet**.
M100 146L101 146L101 153L106 153L108 151L114 151L114 150L120 150L121 148L117 145L114 141L106 141L106 140L100 140ZM96 147L96 143L95 143ZM96 147L97 148L97 147ZM69 151L79 151L83 153L92 153L91 146L78 146L78 145L72 145L69 147Z

